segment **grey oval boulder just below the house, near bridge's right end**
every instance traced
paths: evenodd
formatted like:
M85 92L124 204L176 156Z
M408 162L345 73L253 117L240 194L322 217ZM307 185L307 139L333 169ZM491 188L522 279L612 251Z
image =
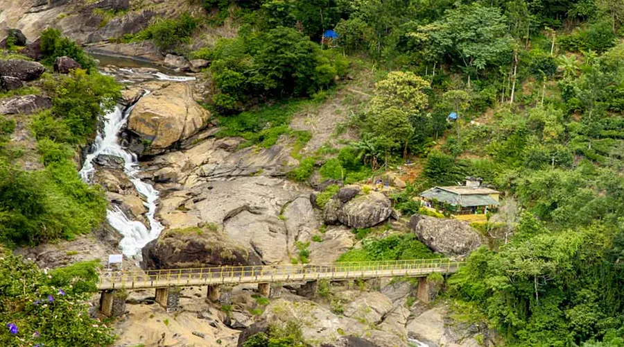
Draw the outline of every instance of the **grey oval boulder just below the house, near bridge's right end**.
M479 233L465 221L414 214L410 228L421 242L444 255L467 255L481 246Z

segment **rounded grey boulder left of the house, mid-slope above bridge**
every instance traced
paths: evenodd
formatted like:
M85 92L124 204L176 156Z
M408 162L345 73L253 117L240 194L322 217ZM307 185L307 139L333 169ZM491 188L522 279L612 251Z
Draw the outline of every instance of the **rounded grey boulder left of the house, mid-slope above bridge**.
M370 228L391 214L392 201L379 192L371 192L345 203L338 212L338 221L351 228Z

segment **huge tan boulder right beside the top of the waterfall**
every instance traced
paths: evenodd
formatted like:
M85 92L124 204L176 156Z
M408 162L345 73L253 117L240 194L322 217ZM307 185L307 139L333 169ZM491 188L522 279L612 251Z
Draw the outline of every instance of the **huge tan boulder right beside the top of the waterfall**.
M210 113L193 99L191 85L172 83L137 102L128 129L150 143L148 153L157 154L195 135L209 117Z

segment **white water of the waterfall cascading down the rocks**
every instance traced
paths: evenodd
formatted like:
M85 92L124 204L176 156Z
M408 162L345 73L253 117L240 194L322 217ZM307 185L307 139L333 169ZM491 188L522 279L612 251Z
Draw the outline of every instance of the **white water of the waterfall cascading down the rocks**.
M127 121L127 116L130 114L130 111L132 111L132 108L134 108L134 105L123 112L118 105L112 112L105 115L104 128L98 131L98 135L93 144L93 151L85 158L85 164L83 164L83 168L80 169L79 173L83 180L91 182L95 171L93 161L98 155L108 154L123 158L123 171L128 175L132 184L135 185L137 192L146 199L144 204L148 208L146 217L149 221L148 228L148 226L145 226L139 221L128 219L119 207L114 207L112 210L107 211L106 217L108 222L123 235L119 246L123 254L128 256L140 255L141 248L148 242L156 239L164 228L154 217L157 208L156 203L158 201L157 190L149 183L141 181L138 177L139 162L137 160L137 155L126 151L119 144L119 131Z

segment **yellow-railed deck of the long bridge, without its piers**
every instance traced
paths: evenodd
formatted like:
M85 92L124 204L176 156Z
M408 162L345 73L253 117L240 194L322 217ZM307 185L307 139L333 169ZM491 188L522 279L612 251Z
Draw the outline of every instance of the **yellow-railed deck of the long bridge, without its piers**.
M446 258L331 264L218 266L197 269L108 271L100 276L98 289L146 289L191 285L286 282L298 280L345 280L393 276L422 277L429 273L453 273L465 264Z

